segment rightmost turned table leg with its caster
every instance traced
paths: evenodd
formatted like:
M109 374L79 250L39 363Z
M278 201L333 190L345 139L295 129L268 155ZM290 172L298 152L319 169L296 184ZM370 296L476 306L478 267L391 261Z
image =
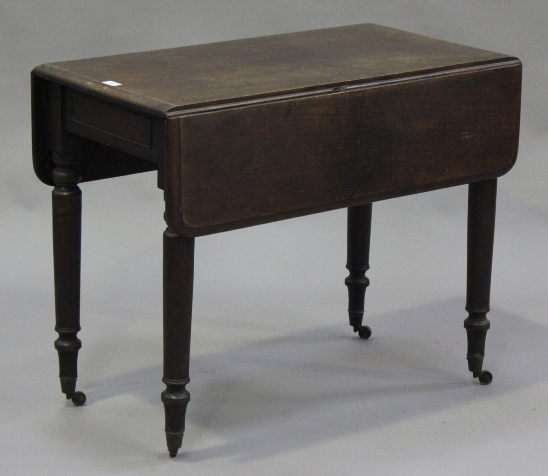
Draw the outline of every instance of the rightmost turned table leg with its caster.
M466 311L468 368L483 385L493 376L482 370L485 339L489 329L489 294L495 232L496 179L473 182L468 193L468 253Z

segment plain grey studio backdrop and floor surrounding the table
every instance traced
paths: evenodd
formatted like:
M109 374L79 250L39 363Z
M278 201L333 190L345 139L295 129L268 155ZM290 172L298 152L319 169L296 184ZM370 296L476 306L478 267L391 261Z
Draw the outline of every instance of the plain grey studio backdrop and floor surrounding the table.
M0 0L2 474L545 474L548 9L544 2ZM162 194L82 185L74 408L53 341L50 191L33 175L44 62L375 22L518 56L520 154L499 180L488 387L466 368L466 187L373 207L363 342L347 325L345 211L197 239L192 402L164 448Z

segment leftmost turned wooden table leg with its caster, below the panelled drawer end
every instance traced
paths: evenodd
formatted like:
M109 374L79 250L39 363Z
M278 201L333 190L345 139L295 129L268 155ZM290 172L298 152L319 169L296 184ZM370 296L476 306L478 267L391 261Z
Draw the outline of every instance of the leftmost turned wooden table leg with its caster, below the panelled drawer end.
M80 250L82 231L82 192L79 162L73 154L54 153L52 192L53 267L55 284L55 331L59 339L61 392L75 405L85 403L85 395L76 391L80 330Z

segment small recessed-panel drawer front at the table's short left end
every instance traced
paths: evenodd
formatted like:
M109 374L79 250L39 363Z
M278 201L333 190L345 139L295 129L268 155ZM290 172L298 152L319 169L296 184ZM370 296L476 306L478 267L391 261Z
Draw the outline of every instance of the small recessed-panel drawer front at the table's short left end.
M152 119L65 91L64 128L137 157L152 157Z

